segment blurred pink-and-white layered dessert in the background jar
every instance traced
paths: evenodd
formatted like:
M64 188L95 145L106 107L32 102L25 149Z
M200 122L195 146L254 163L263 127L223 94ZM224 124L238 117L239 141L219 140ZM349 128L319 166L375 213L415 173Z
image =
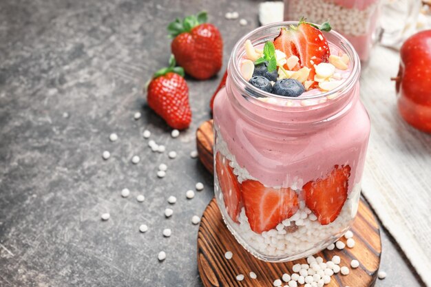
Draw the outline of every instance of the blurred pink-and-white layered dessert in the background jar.
M367 61L377 30L379 0L288 0L286 19L307 15L308 21L330 21L352 43L361 61Z

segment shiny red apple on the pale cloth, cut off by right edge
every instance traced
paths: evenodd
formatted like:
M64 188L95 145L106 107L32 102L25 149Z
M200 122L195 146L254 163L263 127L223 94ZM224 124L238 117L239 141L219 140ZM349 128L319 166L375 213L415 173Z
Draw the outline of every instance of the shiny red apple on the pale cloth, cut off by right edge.
M410 36L401 47L398 109L407 123L431 133L431 30Z

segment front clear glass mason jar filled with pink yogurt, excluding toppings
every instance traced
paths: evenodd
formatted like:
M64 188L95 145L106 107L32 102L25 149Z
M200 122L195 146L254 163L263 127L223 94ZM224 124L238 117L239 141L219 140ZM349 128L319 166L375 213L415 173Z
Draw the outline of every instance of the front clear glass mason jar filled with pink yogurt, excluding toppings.
M315 254L348 230L370 133L359 56L337 32L324 34L350 58L350 74L330 92L288 98L242 77L244 42L262 45L289 24L297 22L257 28L236 43L213 107L215 198L236 240L271 262Z

